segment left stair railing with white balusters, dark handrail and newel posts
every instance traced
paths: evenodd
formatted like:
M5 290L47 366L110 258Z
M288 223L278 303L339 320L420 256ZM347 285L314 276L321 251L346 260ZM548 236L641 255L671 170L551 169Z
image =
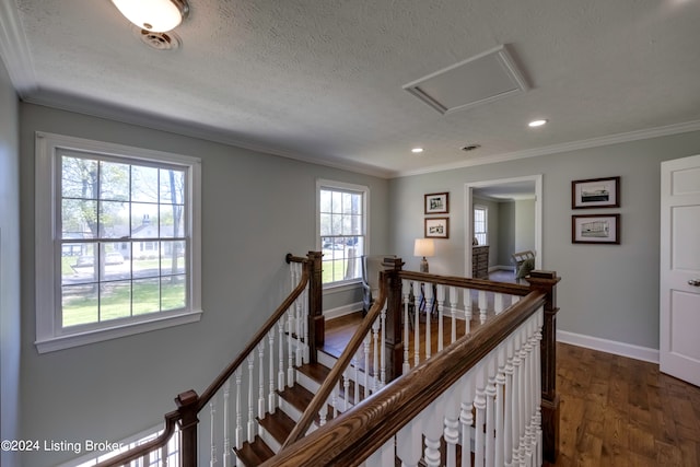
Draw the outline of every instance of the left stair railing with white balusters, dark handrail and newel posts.
M235 453L254 442L258 420L276 411L277 394L294 384L295 367L315 361L316 347L323 345L320 258L319 252L306 257L287 255L293 290L241 354L201 396L195 390L179 394L177 410L165 415L156 439L98 467L195 467L200 460L211 466L238 465ZM179 456L173 462L167 450L174 435L179 435ZM202 444L206 452L198 450Z

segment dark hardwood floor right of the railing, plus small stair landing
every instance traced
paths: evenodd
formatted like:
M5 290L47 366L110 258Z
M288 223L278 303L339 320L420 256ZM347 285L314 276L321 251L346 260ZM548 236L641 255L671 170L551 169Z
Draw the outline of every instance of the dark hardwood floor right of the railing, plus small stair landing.
M329 320L326 351L339 354L360 318ZM700 388L658 365L558 343L557 392L556 466L700 467Z

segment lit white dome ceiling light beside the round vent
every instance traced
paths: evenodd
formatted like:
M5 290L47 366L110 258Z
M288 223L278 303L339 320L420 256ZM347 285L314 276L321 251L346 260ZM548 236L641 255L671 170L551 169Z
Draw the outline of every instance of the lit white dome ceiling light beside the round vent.
M127 20L154 33L171 31L189 14L187 0L112 0Z

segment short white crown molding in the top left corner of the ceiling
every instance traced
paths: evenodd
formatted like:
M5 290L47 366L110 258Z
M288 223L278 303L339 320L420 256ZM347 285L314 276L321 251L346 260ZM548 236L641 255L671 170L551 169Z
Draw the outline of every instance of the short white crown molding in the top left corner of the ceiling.
M14 0L0 2L0 56L20 97L37 89L32 55Z

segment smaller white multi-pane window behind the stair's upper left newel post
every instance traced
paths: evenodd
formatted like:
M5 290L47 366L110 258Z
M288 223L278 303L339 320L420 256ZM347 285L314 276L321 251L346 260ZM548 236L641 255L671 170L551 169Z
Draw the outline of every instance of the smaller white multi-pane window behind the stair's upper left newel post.
M368 240L369 188L318 180L317 194L323 283L358 281L362 278L361 259Z

